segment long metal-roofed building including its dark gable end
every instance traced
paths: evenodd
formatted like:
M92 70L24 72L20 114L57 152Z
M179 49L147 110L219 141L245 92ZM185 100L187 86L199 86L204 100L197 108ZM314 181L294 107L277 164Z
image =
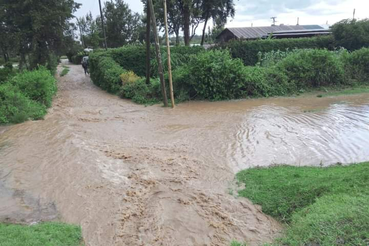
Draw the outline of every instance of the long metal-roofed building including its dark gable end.
M271 33L283 31L306 31L325 29L320 25L296 25L296 26L269 26L269 27L234 27L226 28L216 37L217 42L228 42L231 39L258 39L265 38ZM281 33L282 34L282 33ZM281 35L280 37L282 37Z

